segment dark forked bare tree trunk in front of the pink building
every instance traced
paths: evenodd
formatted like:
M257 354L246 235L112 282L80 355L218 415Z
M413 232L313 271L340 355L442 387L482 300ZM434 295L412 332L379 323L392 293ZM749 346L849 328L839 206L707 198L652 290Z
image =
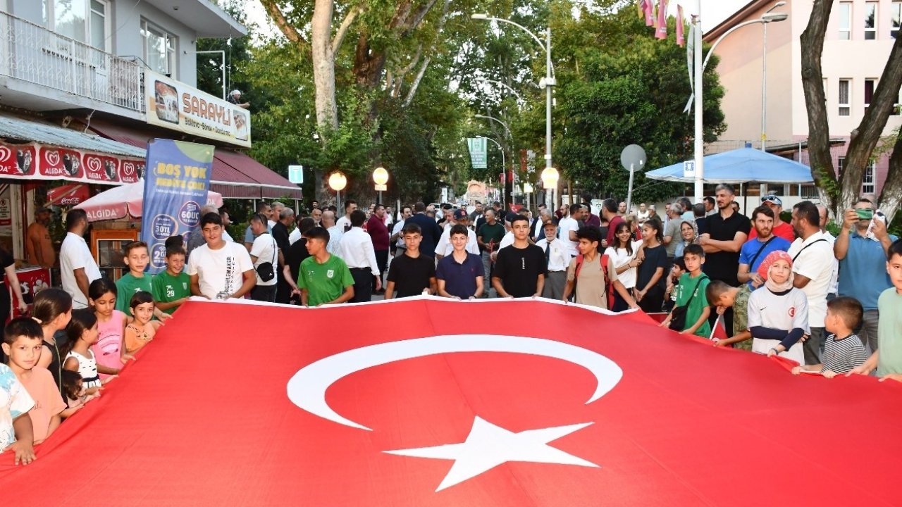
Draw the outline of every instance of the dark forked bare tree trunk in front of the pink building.
M861 195L865 168L897 103L899 88L902 87L902 37L897 37L893 44L861 124L851 132L842 174L837 174L830 155L830 126L821 69L824 36L832 9L833 0L815 0L812 5L811 17L800 40L802 88L808 111L808 152L815 185L825 205L833 210L834 217L842 217L842 210L852 207ZM902 147L902 138L898 134L895 146ZM878 199L879 208L890 220L902 202L902 174L897 173L902 170L900 157L902 153L894 150L890 157L890 172Z

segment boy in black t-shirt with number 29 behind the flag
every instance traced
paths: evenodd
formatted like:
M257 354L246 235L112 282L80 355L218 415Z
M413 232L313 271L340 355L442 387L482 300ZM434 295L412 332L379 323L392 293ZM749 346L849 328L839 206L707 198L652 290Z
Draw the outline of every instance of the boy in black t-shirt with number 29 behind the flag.
M401 229L401 235L407 249L403 255L391 260L385 284L385 299L435 294L436 261L428 255L419 253L419 243L423 241L419 226L405 224ZM398 291L397 294L395 294L395 290Z

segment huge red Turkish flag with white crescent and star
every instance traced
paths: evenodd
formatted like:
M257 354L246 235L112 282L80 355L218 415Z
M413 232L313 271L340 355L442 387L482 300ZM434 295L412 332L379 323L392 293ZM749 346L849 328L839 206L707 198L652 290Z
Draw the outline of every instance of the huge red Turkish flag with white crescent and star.
M546 300L189 301L36 461L0 454L0 491L5 505L898 504L902 384L793 376L709 343Z

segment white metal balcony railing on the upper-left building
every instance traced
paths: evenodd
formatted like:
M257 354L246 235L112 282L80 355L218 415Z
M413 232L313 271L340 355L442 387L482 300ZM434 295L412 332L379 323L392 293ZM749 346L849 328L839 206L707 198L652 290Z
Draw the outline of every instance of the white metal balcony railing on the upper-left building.
M0 75L145 111L139 63L2 12Z

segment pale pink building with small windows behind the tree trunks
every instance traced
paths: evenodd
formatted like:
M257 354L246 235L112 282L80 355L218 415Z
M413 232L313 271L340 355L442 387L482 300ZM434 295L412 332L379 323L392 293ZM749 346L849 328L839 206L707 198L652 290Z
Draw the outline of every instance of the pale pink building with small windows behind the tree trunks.
M737 24L761 18L775 4L776 0L751 1L706 32L704 41L717 41ZM717 69L726 90L722 107L728 126L721 136L723 141L709 146L709 152L722 152L745 143L758 148L765 137L767 151L808 163L805 150L808 118L802 91L799 37L805 31L811 6L812 0L787 0L786 5L771 11L788 14L788 18L767 25L766 136L762 136L761 106L765 25L743 26L718 44L715 53L720 57ZM824 41L823 72L833 161L839 169L842 169L850 133L861 122L878 86L899 32L900 17L902 0L835 0ZM902 125L902 115L897 106L884 133L890 134L899 125ZM887 168L888 155L873 161L861 193L879 192ZM755 190L750 188L749 195L755 195ZM761 195L778 193L790 197L791 201L817 196L813 186L761 185L757 190Z

